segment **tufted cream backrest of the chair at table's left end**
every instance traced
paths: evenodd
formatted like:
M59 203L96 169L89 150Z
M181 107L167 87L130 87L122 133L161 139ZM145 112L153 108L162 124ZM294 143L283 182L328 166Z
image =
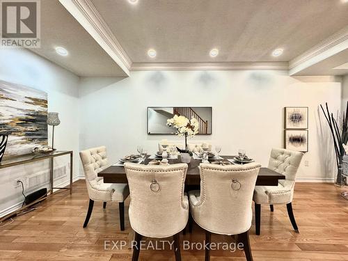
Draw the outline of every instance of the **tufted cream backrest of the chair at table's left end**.
M98 177L97 173L104 170L108 165L106 147L101 146L82 150L80 152L80 158L82 166L84 166L88 194L91 198L91 195L93 195L93 189L100 189L100 183L102 182L102 177ZM91 199L97 200L97 198Z

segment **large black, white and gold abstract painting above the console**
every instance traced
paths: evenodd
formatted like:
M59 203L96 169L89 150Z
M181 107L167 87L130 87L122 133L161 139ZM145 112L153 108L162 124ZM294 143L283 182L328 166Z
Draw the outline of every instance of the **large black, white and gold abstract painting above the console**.
M4 159L47 145L47 93L0 81L0 134L8 134Z

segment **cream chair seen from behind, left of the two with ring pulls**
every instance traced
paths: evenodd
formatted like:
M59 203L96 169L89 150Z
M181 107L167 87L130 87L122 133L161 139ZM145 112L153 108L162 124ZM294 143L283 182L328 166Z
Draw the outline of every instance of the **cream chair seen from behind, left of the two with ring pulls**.
M181 260L180 232L189 219L184 195L187 164L166 166L125 163L131 202L129 221L135 232L132 260L138 260L141 237L173 236L175 260Z

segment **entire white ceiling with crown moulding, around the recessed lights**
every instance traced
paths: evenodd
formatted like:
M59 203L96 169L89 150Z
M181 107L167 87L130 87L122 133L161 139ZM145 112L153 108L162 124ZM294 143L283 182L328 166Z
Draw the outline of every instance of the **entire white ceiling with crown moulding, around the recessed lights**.
M79 76L243 68L346 73L331 70L348 62L342 51L343 44L348 49L348 3L342 0L59 1L41 1L41 49L32 51ZM336 32L343 34L333 40ZM310 53L318 44L320 51ZM306 61L333 44L341 44L340 52ZM56 46L68 49L69 56L58 56ZM156 58L147 55L150 48L156 49ZM212 48L219 49L219 56L209 56ZM271 56L276 48L283 48L283 55Z

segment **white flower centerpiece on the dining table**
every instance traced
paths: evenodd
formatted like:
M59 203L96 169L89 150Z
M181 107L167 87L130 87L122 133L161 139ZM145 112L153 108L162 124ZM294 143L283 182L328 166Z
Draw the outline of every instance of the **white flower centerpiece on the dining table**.
M176 129L175 134L177 136L185 137L185 152L189 153L189 148L187 147L187 137L193 137L198 134L198 120L194 117L189 120L185 116L177 116L175 114L173 118L167 120L167 125Z

